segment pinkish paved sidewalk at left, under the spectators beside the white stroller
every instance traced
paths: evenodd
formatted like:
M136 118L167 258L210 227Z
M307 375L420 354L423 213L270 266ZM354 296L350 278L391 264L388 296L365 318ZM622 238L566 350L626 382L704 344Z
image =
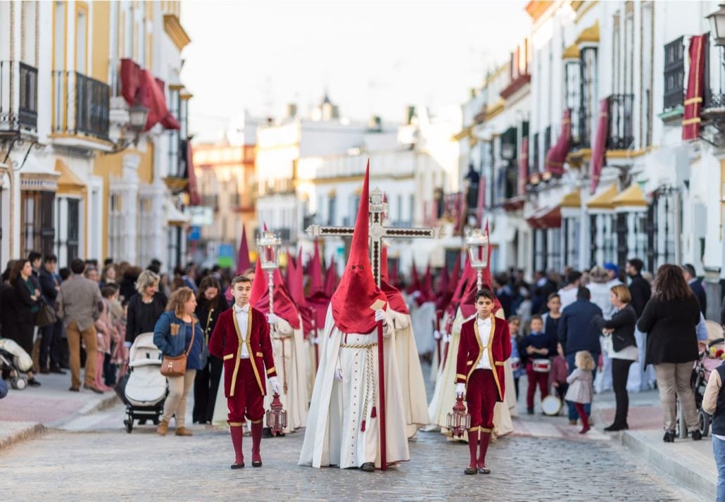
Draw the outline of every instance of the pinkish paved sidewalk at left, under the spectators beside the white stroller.
M113 391L96 394L81 388L80 392L70 392L70 372L37 378L41 387L10 389L0 400L0 452L14 443L41 435L46 429L62 427L80 416L119 402Z

